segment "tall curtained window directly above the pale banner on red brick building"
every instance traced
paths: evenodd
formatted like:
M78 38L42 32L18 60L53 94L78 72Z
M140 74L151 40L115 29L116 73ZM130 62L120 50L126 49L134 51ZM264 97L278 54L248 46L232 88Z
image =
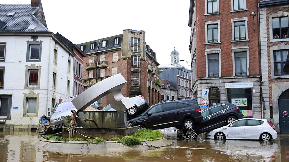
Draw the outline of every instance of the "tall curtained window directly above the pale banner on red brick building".
M247 75L247 52L235 52L235 75Z

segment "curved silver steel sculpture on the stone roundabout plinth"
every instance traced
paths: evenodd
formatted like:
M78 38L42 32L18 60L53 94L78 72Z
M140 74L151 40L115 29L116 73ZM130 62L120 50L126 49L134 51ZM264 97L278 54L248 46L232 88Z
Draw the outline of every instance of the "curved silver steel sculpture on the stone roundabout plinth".
M124 97L121 93L126 80L122 74L108 77L79 94L71 102L78 111L83 111L95 101L106 96L108 103L117 111L125 111L134 106L129 97Z

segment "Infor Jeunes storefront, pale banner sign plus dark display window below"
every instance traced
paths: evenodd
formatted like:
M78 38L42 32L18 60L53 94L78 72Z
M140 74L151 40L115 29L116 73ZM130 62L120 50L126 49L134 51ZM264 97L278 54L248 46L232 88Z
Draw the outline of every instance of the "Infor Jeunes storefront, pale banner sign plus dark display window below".
M238 106L244 118L252 118L252 88L253 82L225 83L227 99L230 103Z

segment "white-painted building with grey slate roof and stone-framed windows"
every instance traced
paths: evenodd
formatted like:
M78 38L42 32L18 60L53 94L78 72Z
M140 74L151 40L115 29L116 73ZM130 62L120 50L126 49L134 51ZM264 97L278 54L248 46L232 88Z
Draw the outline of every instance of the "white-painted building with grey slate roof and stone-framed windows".
M58 99L72 96L75 54L47 29L41 1L0 10L0 128L37 128Z

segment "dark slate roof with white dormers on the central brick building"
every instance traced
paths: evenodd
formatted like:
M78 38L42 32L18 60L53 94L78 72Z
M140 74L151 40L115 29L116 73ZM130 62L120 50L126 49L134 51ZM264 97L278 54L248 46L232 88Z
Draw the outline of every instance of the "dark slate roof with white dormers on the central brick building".
M119 38L118 39L118 45L113 45L114 44L114 38L117 38L117 37ZM106 40L106 47L101 48L102 41L104 41L104 40ZM122 34L119 34L119 35L115 35L112 37L107 37L107 38L97 39L94 41L80 43L77 46L80 48L81 45L85 45L83 52L86 54L86 53L97 52L97 51L102 51L102 50L108 50L111 48L121 47L121 42L122 42ZM90 50L90 44L91 43L94 43L94 50Z

